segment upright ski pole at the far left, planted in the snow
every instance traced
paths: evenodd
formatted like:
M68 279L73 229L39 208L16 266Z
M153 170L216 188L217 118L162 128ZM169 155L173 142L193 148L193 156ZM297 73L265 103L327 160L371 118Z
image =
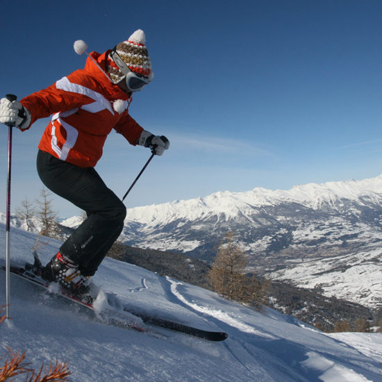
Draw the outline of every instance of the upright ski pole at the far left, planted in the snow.
M16 101L17 97L13 94L6 94L9 101ZM6 213L6 319L10 318L10 169L12 161L12 128L8 126L8 169L7 169L7 213Z

